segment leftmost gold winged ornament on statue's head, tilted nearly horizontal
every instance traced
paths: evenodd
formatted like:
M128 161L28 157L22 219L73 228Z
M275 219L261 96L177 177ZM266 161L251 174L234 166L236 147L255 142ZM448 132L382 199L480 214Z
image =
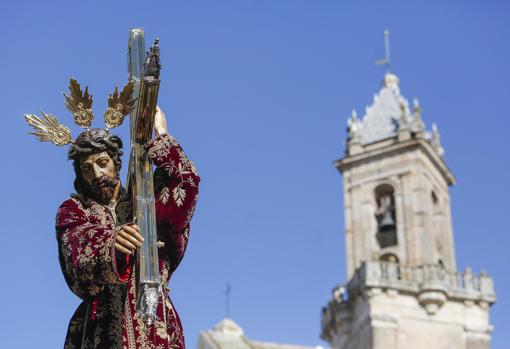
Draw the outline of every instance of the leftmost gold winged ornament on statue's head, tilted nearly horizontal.
M46 114L41 110L42 118L34 114L25 114L25 120L34 128L30 134L35 135L41 142L53 142L58 146L72 143L71 130L59 124L57 117Z

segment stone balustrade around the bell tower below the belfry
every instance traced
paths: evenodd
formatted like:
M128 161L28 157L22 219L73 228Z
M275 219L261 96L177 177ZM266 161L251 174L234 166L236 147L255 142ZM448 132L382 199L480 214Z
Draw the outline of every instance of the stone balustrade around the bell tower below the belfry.
M429 314L436 313L447 300L476 303L486 309L496 301L492 278L484 272L474 275L470 268L450 272L438 264L408 267L392 262L364 262L347 285L333 290L333 298L323 308L324 340L331 340L342 323L350 323L353 301L371 289L413 294Z

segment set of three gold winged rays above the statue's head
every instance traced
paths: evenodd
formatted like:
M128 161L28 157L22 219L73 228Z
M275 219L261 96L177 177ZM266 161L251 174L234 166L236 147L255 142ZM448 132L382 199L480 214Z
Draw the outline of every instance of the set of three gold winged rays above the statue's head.
M132 99L134 83L127 83L119 93L117 87L115 91L108 96L108 108L104 112L104 122L106 131L122 124L124 117L133 110L135 100ZM65 104L74 117L76 125L90 130L90 125L94 119L92 112L92 95L89 94L88 87L85 92L82 91L80 84L75 80L69 81L69 92L65 97ZM25 114L25 120L33 127L30 134L35 135L41 142L53 142L58 146L73 143L71 130L59 123L57 117L47 114L41 110L42 117L35 114Z

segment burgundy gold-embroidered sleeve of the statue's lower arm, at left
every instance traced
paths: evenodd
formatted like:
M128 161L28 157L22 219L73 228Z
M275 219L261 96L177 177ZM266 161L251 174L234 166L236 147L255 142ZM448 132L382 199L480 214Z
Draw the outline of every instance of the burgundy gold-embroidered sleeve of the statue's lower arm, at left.
M128 280L129 261L116 256L115 230L93 222L77 201L65 201L56 219L59 258L69 288L80 298L95 296L103 285ZM122 260L122 266L117 265Z

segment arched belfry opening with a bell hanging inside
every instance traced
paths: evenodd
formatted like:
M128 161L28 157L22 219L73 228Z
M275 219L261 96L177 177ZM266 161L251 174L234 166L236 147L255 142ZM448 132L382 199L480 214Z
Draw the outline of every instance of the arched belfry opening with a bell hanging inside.
M377 210L376 238L381 248L397 245L397 223L395 215L395 196L391 185L383 184L375 190Z

